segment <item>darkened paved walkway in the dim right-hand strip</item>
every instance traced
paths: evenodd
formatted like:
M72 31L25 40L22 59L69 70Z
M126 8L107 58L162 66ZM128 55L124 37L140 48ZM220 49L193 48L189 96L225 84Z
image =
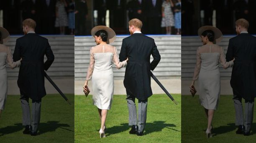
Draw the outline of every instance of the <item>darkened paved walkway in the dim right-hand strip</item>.
M182 95L191 95L189 91L189 86L191 84L191 80L182 80ZM197 86L198 81L195 83L195 88L197 89L198 94L198 86ZM221 95L233 95L232 88L230 86L230 80L229 79L223 79L220 81L220 94Z

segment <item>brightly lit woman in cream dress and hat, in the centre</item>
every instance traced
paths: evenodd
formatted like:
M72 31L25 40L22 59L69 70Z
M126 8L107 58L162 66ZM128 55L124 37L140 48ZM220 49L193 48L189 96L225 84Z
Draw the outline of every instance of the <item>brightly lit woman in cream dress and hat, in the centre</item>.
M120 69L127 64L127 60L119 62L118 51L115 47L109 45L114 42L115 32L106 26L96 26L91 30L92 37L95 38L97 46L90 49L90 65L84 84L86 86L92 79L92 99L101 120L100 138L105 137L105 121L108 110L111 107L114 91L114 78L112 64Z

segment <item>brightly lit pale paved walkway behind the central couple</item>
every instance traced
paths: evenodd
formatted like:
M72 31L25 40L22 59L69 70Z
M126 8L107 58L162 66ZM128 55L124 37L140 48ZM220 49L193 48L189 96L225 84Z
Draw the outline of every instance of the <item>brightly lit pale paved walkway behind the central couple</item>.
M159 79L161 84L164 85L167 91L172 94L180 94L181 93L181 79ZM83 89L82 86L84 85L84 81L75 81L75 95L82 95ZM126 91L123 86L123 80L118 79L114 80L114 94L115 95L125 95ZM164 91L159 87L158 84L152 79L151 80L151 88L153 94L164 94ZM89 81L89 89L92 89L91 81Z

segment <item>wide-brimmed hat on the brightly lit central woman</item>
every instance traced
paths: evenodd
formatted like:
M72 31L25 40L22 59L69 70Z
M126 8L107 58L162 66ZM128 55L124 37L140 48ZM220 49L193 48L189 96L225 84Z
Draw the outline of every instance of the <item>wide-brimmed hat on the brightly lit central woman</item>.
M113 43L115 41L115 38L116 38L115 31L113 29L111 29L110 27L107 27L107 26L95 26L95 27L93 27L92 30L91 30L92 37L94 37L95 33L99 30L105 30L108 33L107 44Z

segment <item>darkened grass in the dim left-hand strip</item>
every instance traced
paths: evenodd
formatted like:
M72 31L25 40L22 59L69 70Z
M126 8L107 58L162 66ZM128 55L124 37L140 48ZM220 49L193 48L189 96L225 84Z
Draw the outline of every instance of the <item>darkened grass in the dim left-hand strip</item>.
M1 143L74 143L74 94L66 95L71 106L60 95L46 95L41 104L38 136L22 133L20 95L8 95L0 118ZM31 99L30 99L31 103Z

